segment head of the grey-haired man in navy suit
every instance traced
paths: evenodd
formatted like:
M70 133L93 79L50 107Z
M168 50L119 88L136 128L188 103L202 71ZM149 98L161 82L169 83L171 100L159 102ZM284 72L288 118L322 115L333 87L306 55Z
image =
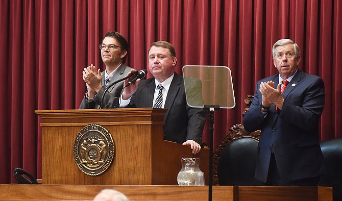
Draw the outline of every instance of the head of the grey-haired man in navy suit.
M300 49L297 43L290 39L280 39L274 43L272 55L273 64L283 79L292 76L301 61Z

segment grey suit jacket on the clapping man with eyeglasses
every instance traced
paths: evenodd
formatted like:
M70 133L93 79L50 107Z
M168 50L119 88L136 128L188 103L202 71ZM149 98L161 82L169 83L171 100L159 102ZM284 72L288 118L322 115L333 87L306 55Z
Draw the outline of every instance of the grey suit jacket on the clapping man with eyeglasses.
M131 67L126 66L124 63L122 63L117 69L115 70L115 73L113 74L113 77L109 84L121 79L125 78L126 74L131 71ZM102 86L104 86L105 83L105 71L102 72ZM105 108L111 108L111 105L113 103L113 100L120 97L121 90L124 88L124 81L121 81L119 83L116 83L113 85L110 89L108 89L105 97L104 97L104 107ZM98 109L101 105L101 97L103 95L103 92L105 91L105 87L102 87L99 92L94 96L91 102L88 102L86 99L86 94L84 95L84 98L82 100L82 103L80 105L80 109ZM87 92L86 92L87 93Z

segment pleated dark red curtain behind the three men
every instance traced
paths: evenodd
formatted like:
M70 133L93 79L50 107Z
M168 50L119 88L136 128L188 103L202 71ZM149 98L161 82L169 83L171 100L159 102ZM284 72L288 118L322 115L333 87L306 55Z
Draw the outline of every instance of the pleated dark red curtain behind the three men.
M77 109L85 66L103 64L97 48L108 31L129 42L127 65L146 68L149 45L175 46L183 65L223 65L232 72L236 106L215 111L214 145L240 123L257 80L277 73L271 49L295 40L300 68L325 82L321 140L342 137L342 1L332 0L0 0L0 183L15 167L41 177L41 130L34 110ZM151 77L149 74L148 77ZM208 141L208 125L204 141ZM56 136L58 137L58 136ZM63 159L51 159L62 163Z

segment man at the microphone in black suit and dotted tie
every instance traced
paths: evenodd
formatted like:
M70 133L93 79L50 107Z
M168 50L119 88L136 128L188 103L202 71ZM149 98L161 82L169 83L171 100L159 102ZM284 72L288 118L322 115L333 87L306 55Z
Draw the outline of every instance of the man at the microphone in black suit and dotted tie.
M186 104L183 77L175 72L175 48L166 41L157 41L152 43L148 53L149 71L154 78L138 79L126 87L119 106L167 108L164 114L164 140L188 145L192 153L197 154L201 150L206 113L202 108L191 108ZM133 72L131 70L130 73ZM132 78L125 80L124 85L130 80Z

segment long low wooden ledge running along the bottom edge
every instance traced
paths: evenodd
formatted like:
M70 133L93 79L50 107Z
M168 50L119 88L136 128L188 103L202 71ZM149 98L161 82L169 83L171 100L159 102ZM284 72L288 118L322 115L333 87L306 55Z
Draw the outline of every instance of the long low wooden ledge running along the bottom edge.
M0 200L92 200L102 189L130 200L208 200L208 186L0 185ZM332 187L213 186L215 201L332 201Z

